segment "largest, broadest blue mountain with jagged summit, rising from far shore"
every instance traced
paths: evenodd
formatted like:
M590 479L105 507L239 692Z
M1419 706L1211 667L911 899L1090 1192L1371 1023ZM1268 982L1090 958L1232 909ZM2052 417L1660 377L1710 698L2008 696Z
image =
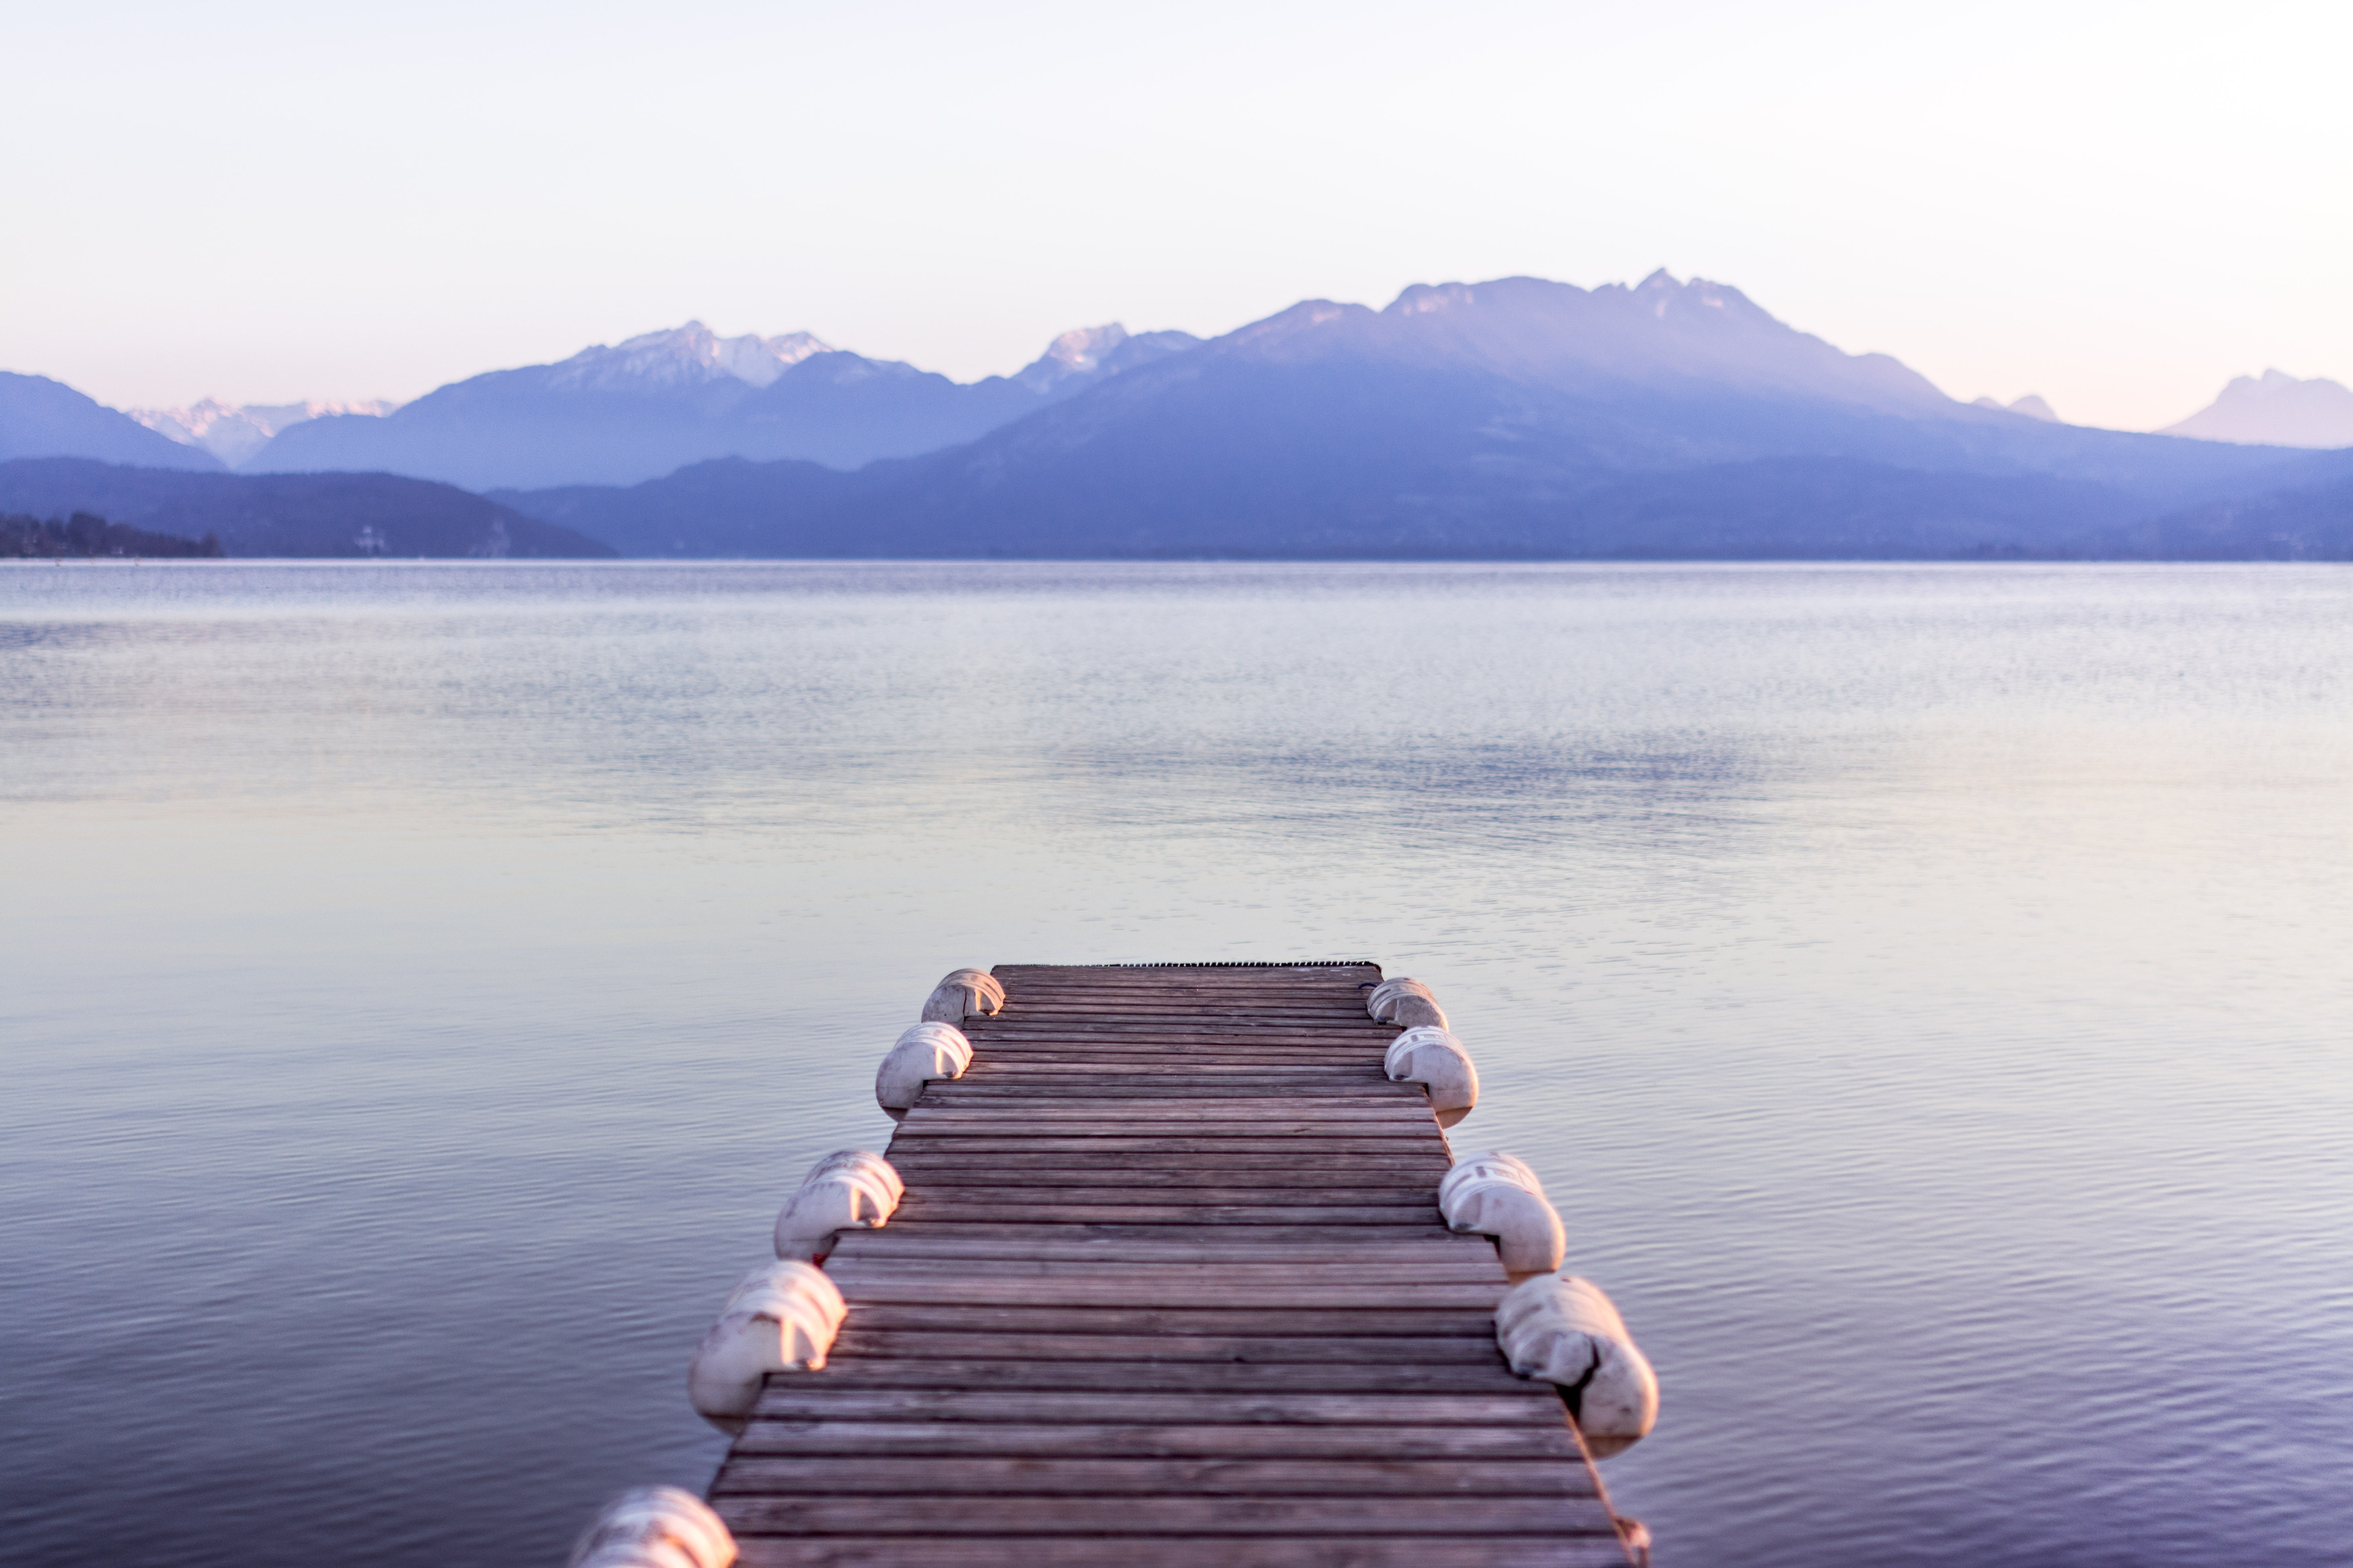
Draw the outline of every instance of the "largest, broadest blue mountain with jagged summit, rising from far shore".
M1306 301L854 475L501 498L626 555L2064 555L2313 461L1977 409L1657 273Z

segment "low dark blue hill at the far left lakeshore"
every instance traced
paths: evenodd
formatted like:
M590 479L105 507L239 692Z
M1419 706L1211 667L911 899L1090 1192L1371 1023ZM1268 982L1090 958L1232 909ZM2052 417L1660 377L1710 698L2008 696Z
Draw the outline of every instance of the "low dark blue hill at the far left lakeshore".
M226 475L118 468L89 458L19 458L0 463L0 512L59 520L96 512L151 534L216 534L228 555L612 555L595 538L482 496L381 473Z

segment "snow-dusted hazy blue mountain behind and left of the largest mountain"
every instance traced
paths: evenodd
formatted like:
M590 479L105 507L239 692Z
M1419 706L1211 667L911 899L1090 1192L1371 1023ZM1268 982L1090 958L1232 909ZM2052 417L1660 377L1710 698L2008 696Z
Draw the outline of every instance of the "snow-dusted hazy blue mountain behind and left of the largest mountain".
M687 322L560 364L473 376L384 418L292 425L245 470L384 470L494 489L631 484L715 456L856 468L969 442L1193 343L1181 331L1089 327L1014 376L965 386L805 331L720 339Z

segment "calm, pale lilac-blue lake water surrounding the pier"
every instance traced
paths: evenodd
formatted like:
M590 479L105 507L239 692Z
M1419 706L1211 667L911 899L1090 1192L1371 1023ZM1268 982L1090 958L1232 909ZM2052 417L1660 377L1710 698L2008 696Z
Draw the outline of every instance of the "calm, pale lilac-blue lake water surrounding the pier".
M24 1566L555 1566L946 969L1431 980L1666 1568L2353 1561L2353 571L0 569Z

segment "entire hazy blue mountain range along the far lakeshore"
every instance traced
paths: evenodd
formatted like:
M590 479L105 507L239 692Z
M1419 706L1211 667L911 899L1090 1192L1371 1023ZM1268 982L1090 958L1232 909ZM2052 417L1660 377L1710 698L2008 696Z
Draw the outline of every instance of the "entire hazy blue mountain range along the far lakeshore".
M2089 430L1659 270L1301 301L1207 343L1092 327L969 386L689 322L391 414L249 411L306 418L242 475L186 442L247 411L151 430L5 376L0 458L132 468L0 463L0 503L240 555L2315 557L2353 451L2245 433L2287 409L2327 435L2332 397L2268 371L2179 428L2207 440Z

